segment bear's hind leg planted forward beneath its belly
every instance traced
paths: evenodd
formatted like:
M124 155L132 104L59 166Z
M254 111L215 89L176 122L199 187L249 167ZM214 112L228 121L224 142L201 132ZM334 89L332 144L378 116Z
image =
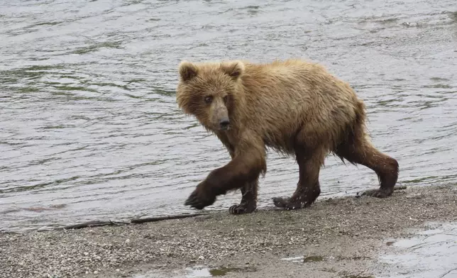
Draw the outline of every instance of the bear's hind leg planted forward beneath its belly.
M287 210L311 206L321 194L319 172L324 164L324 148L316 148L312 151L306 148L297 148L295 154L299 165L297 189L290 198L276 197L273 199L275 206Z

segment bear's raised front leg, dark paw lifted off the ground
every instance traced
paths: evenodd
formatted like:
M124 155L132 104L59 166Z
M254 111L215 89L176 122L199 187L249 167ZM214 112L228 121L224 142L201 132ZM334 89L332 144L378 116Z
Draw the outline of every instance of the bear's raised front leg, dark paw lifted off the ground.
M236 154L231 162L211 171L208 177L197 185L197 188L185 201L185 205L202 209L214 204L216 196L257 181L260 173L266 170L264 146L248 143L241 146L245 148L236 148ZM246 200L253 199L249 195L245 198L247 198ZM252 206L252 202L250 202L250 206Z

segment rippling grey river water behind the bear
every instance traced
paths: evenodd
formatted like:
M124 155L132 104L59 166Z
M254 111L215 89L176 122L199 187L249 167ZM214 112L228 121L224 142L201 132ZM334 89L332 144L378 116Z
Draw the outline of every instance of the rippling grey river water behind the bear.
M177 109L181 60L321 62L365 100L399 184L457 180L454 0L11 0L0 38L0 230L192 212L188 194L228 154ZM297 171L270 152L260 208ZM321 170L322 197L377 184L334 157Z

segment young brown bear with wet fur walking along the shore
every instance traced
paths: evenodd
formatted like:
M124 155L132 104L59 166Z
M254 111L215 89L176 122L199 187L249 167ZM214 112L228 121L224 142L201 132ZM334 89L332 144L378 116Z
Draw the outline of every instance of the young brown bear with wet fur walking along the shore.
M273 198L277 207L313 204L321 193L319 170L329 153L378 174L380 188L363 195L383 198L394 191L397 160L370 143L363 101L321 65L302 60L183 61L179 72L178 106L214 133L231 155L227 165L197 185L185 205L202 209L216 196L241 189L241 204L231 206L230 213L255 211L268 147L295 155L299 166L297 189L290 198Z

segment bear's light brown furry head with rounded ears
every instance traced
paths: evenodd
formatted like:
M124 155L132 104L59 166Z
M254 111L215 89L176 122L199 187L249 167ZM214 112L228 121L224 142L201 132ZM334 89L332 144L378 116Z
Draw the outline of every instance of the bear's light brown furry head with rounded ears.
M236 107L243 99L245 67L241 61L180 63L177 104L212 131L229 130L236 121Z

